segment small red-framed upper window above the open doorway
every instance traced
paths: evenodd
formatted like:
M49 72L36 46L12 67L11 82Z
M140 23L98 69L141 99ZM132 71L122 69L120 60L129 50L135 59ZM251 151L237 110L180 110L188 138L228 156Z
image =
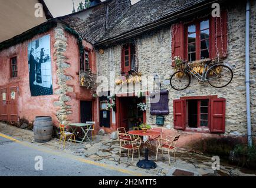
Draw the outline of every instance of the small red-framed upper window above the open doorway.
M122 51L122 72L128 73L130 70L135 70L135 46L133 43L123 45Z

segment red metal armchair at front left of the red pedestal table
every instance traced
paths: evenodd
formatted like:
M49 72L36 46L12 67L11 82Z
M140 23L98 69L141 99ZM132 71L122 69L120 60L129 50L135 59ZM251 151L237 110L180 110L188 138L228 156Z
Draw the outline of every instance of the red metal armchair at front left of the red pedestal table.
M119 147L119 155L121 157L121 151L122 149L127 150L127 155L129 157L129 154L131 151L138 150L139 153L139 159L140 159L140 145L142 144L142 139L138 137L137 139L133 140L130 135L127 135L125 133L119 133L119 141L120 141L120 147ZM132 162L133 163L133 153L132 153Z

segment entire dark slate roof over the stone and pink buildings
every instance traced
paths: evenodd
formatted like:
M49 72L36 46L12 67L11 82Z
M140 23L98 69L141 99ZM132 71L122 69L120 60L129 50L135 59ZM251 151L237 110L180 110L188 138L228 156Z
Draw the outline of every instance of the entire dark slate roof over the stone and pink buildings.
M124 5L118 8L114 4ZM136 4L127 5L129 0L107 0L96 5L90 12L88 19L79 18L79 13L73 16L61 18L64 22L76 30L83 39L93 45L113 39L124 33L142 28L145 25L160 21L166 16L175 15L185 9L211 2L209 0L140 0ZM110 5L109 26L106 27L106 7ZM113 8L114 7L114 8ZM86 11L86 10L85 10ZM89 12L90 10L88 10ZM112 14L111 14L112 11ZM107 28L107 29L106 29Z

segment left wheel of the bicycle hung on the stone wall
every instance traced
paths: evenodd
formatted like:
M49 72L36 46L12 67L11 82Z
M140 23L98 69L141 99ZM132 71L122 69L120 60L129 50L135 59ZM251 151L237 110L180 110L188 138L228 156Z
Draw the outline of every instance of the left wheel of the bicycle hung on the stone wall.
M184 71L175 72L170 77L170 86L172 86L175 90L183 90L188 88L191 82L191 76L189 73L185 73Z

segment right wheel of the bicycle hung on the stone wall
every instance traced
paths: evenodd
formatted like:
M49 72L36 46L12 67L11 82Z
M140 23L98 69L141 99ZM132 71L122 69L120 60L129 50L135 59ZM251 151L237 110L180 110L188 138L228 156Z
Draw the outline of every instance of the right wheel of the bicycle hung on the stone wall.
M233 78L233 71L227 65L213 65L206 73L208 83L214 88L227 86Z

